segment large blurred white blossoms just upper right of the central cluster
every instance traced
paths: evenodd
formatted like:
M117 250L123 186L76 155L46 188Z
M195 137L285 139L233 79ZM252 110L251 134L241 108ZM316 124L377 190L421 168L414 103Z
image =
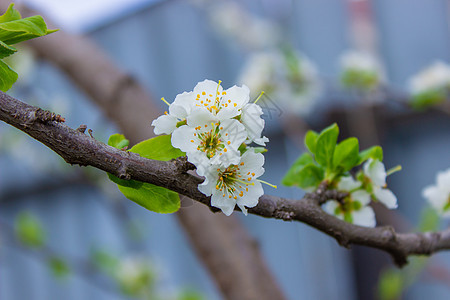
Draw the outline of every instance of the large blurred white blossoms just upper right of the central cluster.
M252 54L238 81L254 93L264 91L287 111L299 115L308 114L321 94L316 67L296 51Z

